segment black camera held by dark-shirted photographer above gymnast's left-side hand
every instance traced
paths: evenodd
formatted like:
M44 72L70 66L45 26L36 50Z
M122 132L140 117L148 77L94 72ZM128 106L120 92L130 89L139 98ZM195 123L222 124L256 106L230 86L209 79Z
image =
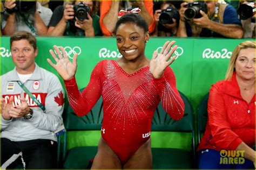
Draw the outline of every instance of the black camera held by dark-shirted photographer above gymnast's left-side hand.
M83 20L88 19L87 12L90 13L90 7L85 5L83 2L80 2L79 4L73 5L73 9L75 11L75 17L77 17L78 20L83 22Z

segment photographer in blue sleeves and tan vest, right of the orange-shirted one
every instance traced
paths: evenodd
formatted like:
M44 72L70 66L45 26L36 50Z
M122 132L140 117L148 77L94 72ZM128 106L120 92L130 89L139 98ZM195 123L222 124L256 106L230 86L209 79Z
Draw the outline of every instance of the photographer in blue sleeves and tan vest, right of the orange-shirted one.
M200 17L190 20L187 20L184 15L188 3L181 4L178 37L242 38L241 23L233 6L219 4L218 1L206 1L206 4L207 13L200 10ZM203 7L200 6L200 8Z

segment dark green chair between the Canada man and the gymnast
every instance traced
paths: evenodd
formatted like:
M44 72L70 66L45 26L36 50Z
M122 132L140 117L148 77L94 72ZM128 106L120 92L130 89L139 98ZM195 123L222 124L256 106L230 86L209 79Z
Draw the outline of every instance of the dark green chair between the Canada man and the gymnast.
M81 89L80 91L82 91ZM72 131L85 131L85 130L98 130L102 128L103 119L103 102L102 97L89 112L89 114L78 117L73 109L68 105L65 112L64 124L67 132ZM63 155L62 164L65 169L84 169L89 165L89 161L93 159L97 153L96 146L78 146L68 150L68 135L64 133L63 139ZM90 140L90 139L88 139Z

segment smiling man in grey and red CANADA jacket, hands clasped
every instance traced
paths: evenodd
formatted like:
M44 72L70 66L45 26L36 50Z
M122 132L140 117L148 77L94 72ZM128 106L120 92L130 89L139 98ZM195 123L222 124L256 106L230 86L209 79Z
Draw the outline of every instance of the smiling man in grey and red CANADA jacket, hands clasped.
M64 90L56 75L35 63L34 36L17 31L10 46L16 67L2 75L1 168L13 169L18 163L24 169L57 168L54 132L63 124Z

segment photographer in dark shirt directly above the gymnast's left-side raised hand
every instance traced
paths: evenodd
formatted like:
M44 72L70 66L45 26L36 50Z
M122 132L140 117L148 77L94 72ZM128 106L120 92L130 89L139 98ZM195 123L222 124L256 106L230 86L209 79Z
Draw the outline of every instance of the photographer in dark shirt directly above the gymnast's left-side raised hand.
M82 11L87 11L87 19L81 21L75 16L77 12L74 10L75 5L80 6ZM53 11L47 34L48 36L101 36L97 11L96 1L75 1L73 5L60 5Z

